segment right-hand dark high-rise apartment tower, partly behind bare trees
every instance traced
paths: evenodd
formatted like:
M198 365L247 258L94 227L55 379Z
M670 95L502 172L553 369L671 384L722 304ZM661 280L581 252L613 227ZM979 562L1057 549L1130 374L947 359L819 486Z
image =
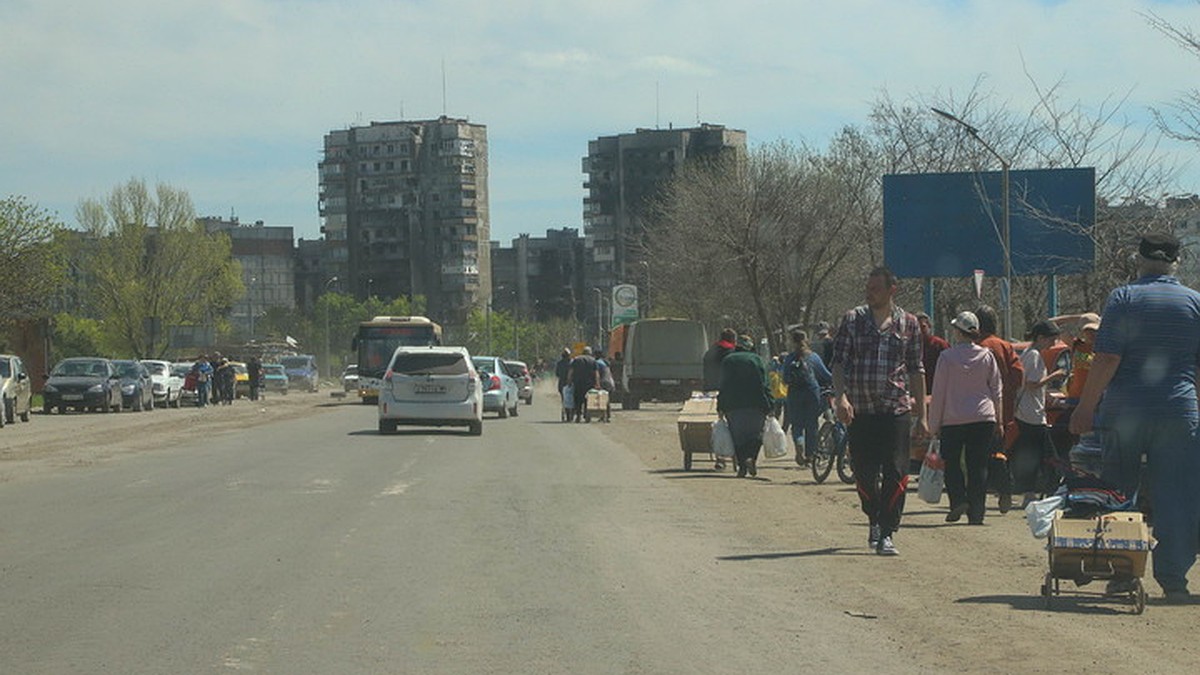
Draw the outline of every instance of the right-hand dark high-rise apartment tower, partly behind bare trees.
M588 142L583 159L584 288L587 316L595 297L617 283L634 283L647 295L650 262L642 255L648 208L664 183L690 159L744 154L744 131L702 124L692 129L638 129ZM644 264L643 264L644 263ZM600 293L592 293L593 288Z

